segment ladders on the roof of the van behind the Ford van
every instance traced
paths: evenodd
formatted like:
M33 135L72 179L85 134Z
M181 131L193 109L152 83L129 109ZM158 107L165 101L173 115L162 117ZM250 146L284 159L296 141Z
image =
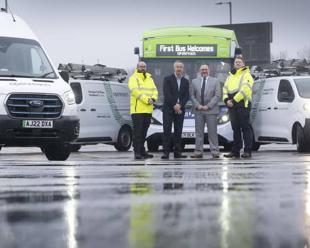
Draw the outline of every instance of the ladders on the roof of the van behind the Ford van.
M89 79L102 81L123 82L127 72L121 68L106 67L103 64L87 65L74 63L60 63L58 70L66 70L69 77L74 79Z

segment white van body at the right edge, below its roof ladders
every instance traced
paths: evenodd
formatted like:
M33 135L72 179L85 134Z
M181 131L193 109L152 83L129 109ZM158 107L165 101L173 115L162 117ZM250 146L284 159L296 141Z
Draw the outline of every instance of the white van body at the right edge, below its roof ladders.
M310 151L310 75L254 81L250 123L254 150L279 143Z

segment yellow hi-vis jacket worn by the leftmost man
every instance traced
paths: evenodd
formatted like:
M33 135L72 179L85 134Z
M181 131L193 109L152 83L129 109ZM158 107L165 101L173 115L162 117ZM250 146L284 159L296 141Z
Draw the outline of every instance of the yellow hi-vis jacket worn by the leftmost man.
M138 73L137 69L128 81L130 90L130 114L153 113L153 105L148 105L148 100L158 100L158 91L154 84L151 74L145 72Z

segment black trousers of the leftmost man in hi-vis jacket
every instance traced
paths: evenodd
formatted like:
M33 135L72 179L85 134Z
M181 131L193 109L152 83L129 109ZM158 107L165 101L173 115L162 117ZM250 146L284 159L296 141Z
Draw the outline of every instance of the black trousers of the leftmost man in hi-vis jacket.
M147 129L150 125L150 118L152 114L132 114L131 119L133 123L132 129L132 147L134 151L145 153L145 139Z

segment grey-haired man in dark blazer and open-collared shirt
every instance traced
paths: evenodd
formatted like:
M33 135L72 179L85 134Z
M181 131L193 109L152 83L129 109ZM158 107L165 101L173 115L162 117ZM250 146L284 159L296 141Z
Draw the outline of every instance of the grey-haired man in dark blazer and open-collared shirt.
M169 158L170 137L172 123L174 128L174 157L184 158L181 154L181 135L185 114L185 105L189 99L189 82L182 76L184 63L177 60L174 63L174 73L164 78L164 104L163 104L163 155Z

